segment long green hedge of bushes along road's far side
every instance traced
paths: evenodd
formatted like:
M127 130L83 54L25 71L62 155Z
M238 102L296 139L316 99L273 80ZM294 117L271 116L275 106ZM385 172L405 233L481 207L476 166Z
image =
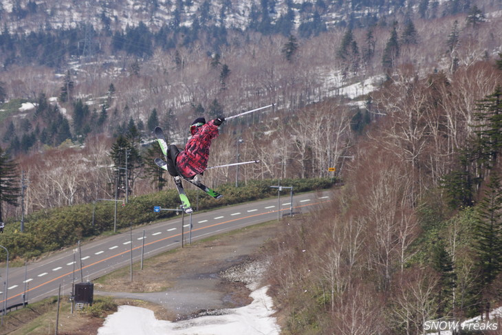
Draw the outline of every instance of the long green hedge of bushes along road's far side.
M198 196L198 209L206 210L275 196L277 189L270 186L276 184L277 180L253 180L239 188L233 184L221 185L217 191L224 197L218 200L192 187L187 187L186 193L194 207ZM328 178L282 180L281 184L293 186L294 193L329 188L332 185ZM119 202L117 228L129 228L131 223L133 225L147 224L160 219L168 219L176 214L172 210L154 213L153 206L179 208L177 191L171 189L133 197L125 206ZM24 233L19 232L19 221L8 222L5 233L0 235L0 245L9 250L11 259L39 257L44 252L72 246L79 240L113 230L114 207L113 202L96 202L96 204L81 204L33 213L25 220ZM1 253L0 257L2 257Z

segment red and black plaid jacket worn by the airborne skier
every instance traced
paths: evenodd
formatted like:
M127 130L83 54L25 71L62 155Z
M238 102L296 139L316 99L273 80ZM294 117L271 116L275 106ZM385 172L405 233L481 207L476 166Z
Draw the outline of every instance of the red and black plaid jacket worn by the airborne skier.
M203 173L208 167L209 147L213 138L218 136L215 120L202 125L186 143L185 150L176 158L177 169L184 177L191 178Z

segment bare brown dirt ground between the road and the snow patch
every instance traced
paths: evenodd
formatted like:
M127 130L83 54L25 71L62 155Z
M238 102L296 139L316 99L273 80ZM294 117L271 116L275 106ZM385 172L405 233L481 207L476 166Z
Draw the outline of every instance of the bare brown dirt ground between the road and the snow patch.
M263 259L261 247L276 236L281 223L243 228L178 248L144 261L143 270L133 267L113 272L94 284L94 294L146 301L157 318L177 321L234 308L251 302L243 281L228 280L228 272L242 263Z

